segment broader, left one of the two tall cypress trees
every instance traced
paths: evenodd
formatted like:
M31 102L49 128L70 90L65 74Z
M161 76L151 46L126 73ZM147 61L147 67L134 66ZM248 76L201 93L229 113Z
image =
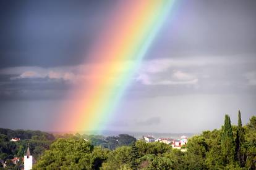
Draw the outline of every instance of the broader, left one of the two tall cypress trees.
M221 139L223 163L230 164L234 161L234 137L229 115L225 115L223 134Z

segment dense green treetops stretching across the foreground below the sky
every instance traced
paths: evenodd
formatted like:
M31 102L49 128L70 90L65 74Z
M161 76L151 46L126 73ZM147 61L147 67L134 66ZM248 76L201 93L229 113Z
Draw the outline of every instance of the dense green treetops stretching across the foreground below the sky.
M7 133L1 134L1 154L6 154L3 157L23 155L25 143L29 140L32 153L36 154L38 150L40 155L45 150L36 149L41 146L40 141L54 139L45 135L44 132L32 135L20 145L19 142L9 142L11 136ZM185 152L161 142L136 141L126 134L111 137L65 134L55 137L56 140L47 145L49 148L43 146L48 150L40 158L38 156L33 169L256 169L256 116L242 126L240 111L237 126L231 125L226 115L221 129L191 137L184 147Z

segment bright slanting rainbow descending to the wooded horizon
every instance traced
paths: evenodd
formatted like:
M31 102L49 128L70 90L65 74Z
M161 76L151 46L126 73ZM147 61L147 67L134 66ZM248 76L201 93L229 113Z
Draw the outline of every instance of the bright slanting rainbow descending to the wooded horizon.
M56 129L92 131L104 129L124 96L135 71L145 57L161 25L174 6L173 0L119 1L105 28L90 49L90 67L62 110ZM87 61L88 62L88 61Z

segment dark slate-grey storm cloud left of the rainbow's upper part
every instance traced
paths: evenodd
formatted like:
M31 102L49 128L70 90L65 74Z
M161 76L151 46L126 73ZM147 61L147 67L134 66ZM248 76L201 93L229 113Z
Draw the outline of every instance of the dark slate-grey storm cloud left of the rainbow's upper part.
M1 1L0 68L83 62L115 1Z

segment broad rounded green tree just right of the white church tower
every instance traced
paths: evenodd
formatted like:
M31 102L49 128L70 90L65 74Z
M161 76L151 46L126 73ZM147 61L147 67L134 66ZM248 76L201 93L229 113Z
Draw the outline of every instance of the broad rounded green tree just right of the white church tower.
M99 169L106 154L83 139L58 139L33 169Z

